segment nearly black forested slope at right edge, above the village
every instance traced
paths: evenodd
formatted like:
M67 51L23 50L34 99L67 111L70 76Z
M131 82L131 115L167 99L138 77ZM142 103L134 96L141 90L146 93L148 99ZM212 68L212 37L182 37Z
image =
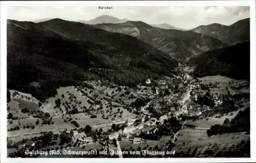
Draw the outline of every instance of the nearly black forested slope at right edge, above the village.
M196 76L223 75L250 80L250 42L207 51L188 61Z

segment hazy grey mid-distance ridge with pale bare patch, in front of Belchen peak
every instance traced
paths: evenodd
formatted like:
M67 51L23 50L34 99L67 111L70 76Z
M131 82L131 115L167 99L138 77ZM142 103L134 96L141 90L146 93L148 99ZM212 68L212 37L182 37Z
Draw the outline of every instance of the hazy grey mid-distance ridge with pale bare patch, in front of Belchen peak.
M216 38L192 31L156 28L143 21L126 21L117 24L96 24L98 29L136 37L167 53L180 62L187 61L207 50L226 47Z

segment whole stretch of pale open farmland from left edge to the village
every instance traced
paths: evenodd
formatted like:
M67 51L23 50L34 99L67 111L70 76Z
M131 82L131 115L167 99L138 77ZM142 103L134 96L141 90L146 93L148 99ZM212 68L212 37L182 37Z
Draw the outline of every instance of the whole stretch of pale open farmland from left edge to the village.
M18 95L15 96L15 99L11 98L11 101L8 104L10 107L9 112L13 113L13 116L18 117L17 120L8 120L8 137L13 137L12 139L16 141L23 139L25 136L32 137L32 135L39 134L41 131L76 128L75 125L70 123L72 120L77 121L79 127L85 127L86 125L94 127L97 124L107 124L106 126L102 126L102 129L105 130L111 127L108 124L112 121L125 122L128 117L134 117L134 114L129 113L122 105L116 103L110 97L106 97L104 94L99 93L98 90L83 88L83 90L87 90L88 96L84 96L79 90L80 88L75 87L59 88L57 89L58 94L55 97L47 99L42 103L41 107L39 107L37 103L32 102L33 97L28 98L26 96L25 98L24 95L20 95L22 93L18 93ZM22 99L18 99L18 97ZM61 103L59 108L55 107L57 99L60 99ZM86 99L90 99L93 102L99 100L99 104L91 104ZM90 110L90 112L70 115L66 114L66 103L68 103L69 106L76 106L78 112L83 111L84 107ZM99 108L100 104L103 104L103 107L101 106L101 108ZM22 108L26 107L29 110L38 110L49 113L53 117L53 124L41 125L41 119L32 118L31 115L29 115L30 113L22 113L19 106ZM107 113L108 116L106 116ZM91 115L96 115L96 118L91 118ZM37 120L39 121L38 124L36 124Z

